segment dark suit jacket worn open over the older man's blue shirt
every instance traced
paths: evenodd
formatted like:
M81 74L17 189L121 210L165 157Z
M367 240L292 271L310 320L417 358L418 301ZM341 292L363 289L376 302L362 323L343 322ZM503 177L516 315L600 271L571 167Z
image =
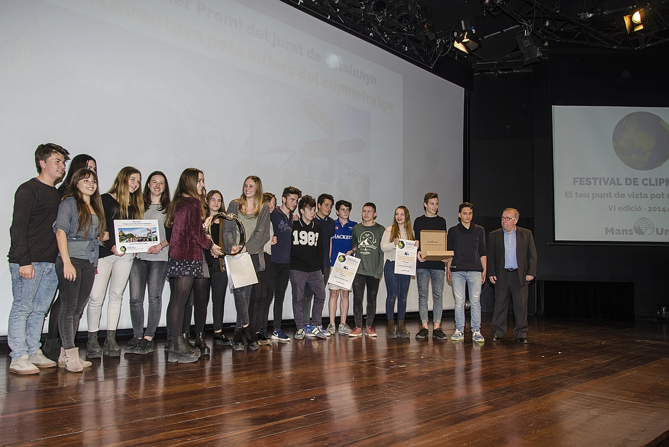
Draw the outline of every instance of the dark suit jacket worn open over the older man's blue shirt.
M488 235L488 265L487 275L496 276L496 286L504 286L510 278L517 274L520 285L527 284L525 275L537 276L537 248L532 232L516 227L516 260L518 273L504 271L504 229L491 231Z

